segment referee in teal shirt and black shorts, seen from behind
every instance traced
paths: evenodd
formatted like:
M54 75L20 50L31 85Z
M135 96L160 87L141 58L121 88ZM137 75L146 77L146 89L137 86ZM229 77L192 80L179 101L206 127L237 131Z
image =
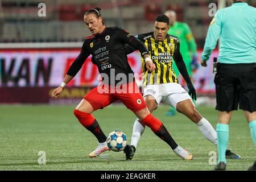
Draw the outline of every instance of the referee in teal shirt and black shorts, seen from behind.
M207 60L220 38L220 55L214 78L216 110L219 111L216 170L226 169L229 122L238 104L249 122L256 146L256 9L245 1L232 2L232 6L218 10L214 16L201 55L201 65L207 67ZM256 170L256 160L249 170Z

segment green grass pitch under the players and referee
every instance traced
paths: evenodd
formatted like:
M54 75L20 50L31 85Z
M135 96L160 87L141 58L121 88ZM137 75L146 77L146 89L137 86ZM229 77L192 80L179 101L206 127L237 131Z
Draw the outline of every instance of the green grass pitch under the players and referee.
M192 152L185 161L146 128L131 161L123 152L104 152L90 159L97 146L94 136L73 115L75 106L1 105L0 170L212 170L210 151L217 148L203 137L197 126L184 115L166 117L167 106L154 112L176 142ZM218 113L213 107L198 107L200 113L216 127ZM108 135L118 129L130 143L135 115L123 105L113 105L93 113ZM241 155L228 159L228 170L246 170L255 160L255 147L241 110L234 111L229 126L229 148ZM46 152L46 165L39 165L39 151Z

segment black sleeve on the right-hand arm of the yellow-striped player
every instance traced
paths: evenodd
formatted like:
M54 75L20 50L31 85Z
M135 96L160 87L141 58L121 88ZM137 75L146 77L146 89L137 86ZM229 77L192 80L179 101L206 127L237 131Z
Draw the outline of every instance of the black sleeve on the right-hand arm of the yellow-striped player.
M180 43L179 42L177 42L177 47L174 52L174 61L177 65L177 68L179 69L180 74L183 76L183 78L187 82L187 84L192 84L191 79L188 75L188 71L187 71L186 65L184 63L183 57L180 53Z

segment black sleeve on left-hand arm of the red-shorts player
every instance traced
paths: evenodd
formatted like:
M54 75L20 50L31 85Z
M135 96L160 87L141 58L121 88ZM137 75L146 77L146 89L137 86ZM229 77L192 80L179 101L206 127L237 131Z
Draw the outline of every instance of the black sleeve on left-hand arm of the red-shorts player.
M84 64L87 57L89 57L90 53L86 49L86 40L84 44L82 44L82 49L80 54L76 57L76 60L71 64L68 69L67 75L75 77L77 72L82 68L82 64Z

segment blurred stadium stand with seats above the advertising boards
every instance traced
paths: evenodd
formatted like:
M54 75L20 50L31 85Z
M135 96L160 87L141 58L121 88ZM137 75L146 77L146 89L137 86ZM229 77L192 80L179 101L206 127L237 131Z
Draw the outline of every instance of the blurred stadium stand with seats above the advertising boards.
M38 16L38 4L42 2L46 3L46 17ZM247 3L256 6L255 1ZM175 10L177 20L189 24L198 47L202 48L212 19L208 4L204 0L1 0L0 42L81 42L90 35L82 21L84 12L98 5L108 26L121 26L132 34L151 31L157 14Z

